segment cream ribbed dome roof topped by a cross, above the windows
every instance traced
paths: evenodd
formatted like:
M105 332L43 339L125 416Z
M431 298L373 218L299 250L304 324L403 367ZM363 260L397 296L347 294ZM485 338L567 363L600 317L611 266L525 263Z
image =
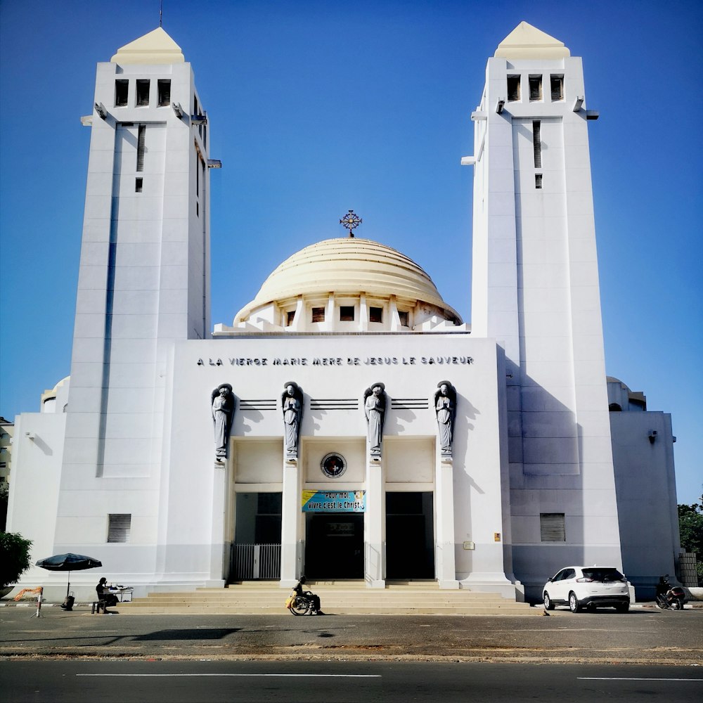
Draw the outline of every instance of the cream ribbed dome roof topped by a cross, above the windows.
M427 302L444 309L447 317L460 322L459 314L447 305L430 276L391 247L368 239L342 237L305 247L266 278L257 297L241 309L235 321L245 320L252 310L298 295L396 295Z

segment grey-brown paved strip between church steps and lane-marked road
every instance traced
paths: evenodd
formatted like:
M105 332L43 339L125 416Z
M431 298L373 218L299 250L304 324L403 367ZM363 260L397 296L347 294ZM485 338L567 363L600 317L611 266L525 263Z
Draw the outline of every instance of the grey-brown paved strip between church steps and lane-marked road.
M591 662L701 666L703 610L550 617L91 615L0 610L0 659ZM703 690L703 687L702 687Z

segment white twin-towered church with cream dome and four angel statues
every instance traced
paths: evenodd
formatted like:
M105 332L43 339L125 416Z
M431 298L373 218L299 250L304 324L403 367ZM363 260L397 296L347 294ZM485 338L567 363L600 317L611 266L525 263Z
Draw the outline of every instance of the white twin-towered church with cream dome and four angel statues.
M85 120L70 388L20 416L8 529L35 558L101 559L136 595L304 572L539 598L564 565L628 565L591 117L561 42L523 22L489 59L463 160L471 327L418 264L347 237L280 264L210 335L209 117L163 30L119 49ZM657 560L636 546L643 582L678 548L671 446L663 471L666 501L638 489L669 525ZM72 576L79 598L93 580Z

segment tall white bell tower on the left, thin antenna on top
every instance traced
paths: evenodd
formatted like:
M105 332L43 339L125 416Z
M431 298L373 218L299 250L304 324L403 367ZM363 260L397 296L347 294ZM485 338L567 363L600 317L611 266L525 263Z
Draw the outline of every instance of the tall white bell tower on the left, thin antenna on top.
M191 65L161 27L98 63L82 122L91 140L62 489L79 482L81 530L102 536L101 491L117 486L105 481L129 479L144 491L120 512L139 515L132 534L154 543L157 505L143 496L160 470L169 349L209 330L209 166L219 162L208 159ZM56 539L75 546L67 496Z

